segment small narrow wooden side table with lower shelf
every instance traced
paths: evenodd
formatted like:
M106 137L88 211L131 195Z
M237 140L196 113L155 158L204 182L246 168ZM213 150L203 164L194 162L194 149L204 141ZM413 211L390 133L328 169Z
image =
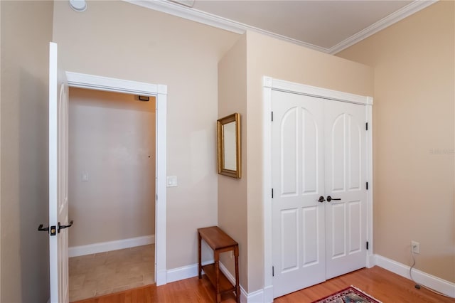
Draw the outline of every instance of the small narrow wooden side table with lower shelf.
M212 283L216 290L215 302L221 301L221 294L225 292L235 292L237 303L240 303L240 285L239 285L239 245L235 240L230 238L218 226L210 226L208 228L198 228L199 239L199 279L202 278L202 270L208 280ZM200 245L202 240L213 249L213 264L202 266ZM220 272L220 253L234 251L235 257L235 286L231 284L228 278Z

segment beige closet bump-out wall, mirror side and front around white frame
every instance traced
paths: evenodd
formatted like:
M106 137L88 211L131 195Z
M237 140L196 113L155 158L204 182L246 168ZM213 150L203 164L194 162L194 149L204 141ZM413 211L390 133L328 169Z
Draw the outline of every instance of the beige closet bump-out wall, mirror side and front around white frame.
M243 39L246 41L244 42ZM243 82L245 67L242 66L245 62L246 86ZM246 132L242 137L244 148L242 160L243 169L247 174L237 183L218 176L220 192L218 220L220 225L223 223L223 228L240 239L242 250L247 252L247 260L241 255L242 265L247 267L247 281L244 278L245 274L242 273L240 282L250 293L262 289L264 281L262 207L262 77L264 75L358 95L373 95L372 68L259 33L247 32L245 37L220 61L219 110L243 113L246 105L246 115L245 113L242 115L242 132ZM244 186L247 186L246 191ZM230 206L229 209L227 209L228 206ZM222 212L222 209L226 210ZM242 270L245 268L241 268Z

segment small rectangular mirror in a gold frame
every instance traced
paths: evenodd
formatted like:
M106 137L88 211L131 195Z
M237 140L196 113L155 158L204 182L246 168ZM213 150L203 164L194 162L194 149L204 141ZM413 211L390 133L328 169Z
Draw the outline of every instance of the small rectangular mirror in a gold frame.
M240 114L218 119L216 122L218 142L218 174L240 179L242 159L240 154Z

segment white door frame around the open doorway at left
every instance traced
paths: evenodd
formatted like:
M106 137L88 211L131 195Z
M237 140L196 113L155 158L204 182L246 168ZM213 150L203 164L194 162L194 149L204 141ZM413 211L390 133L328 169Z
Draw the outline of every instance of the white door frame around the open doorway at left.
M155 281L166 284L166 103L167 86L66 72L70 87L156 97Z

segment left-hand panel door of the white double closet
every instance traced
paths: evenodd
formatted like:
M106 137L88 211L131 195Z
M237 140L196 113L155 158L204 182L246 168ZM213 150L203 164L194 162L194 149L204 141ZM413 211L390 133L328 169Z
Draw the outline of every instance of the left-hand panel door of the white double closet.
M272 91L274 297L326 280L323 102Z

